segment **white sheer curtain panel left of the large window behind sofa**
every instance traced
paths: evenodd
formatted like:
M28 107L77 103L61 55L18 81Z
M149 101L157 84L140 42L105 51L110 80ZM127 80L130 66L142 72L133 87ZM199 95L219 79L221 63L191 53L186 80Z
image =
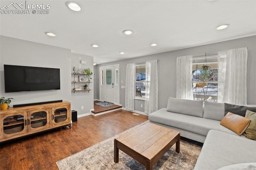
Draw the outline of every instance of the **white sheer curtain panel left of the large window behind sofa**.
M192 55L177 57L176 67L177 98L194 100L192 87Z

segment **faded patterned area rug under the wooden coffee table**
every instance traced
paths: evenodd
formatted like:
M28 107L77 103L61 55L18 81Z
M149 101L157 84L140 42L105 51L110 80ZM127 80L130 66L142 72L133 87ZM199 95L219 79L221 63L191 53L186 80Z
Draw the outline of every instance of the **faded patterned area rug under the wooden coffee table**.
M90 146L76 154L56 162L60 170L145 170L145 166L119 150L119 162L114 162L114 138L138 128L148 121L130 128L112 138ZM201 146L180 141L180 153L175 152L176 145L158 160L153 170L192 170L201 151Z

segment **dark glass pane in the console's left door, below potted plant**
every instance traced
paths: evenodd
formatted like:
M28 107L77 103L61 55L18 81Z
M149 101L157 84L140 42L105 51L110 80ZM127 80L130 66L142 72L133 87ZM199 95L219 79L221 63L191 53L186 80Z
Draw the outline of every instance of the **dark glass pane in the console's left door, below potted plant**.
M24 116L15 115L6 117L3 121L4 134L21 132L24 129Z

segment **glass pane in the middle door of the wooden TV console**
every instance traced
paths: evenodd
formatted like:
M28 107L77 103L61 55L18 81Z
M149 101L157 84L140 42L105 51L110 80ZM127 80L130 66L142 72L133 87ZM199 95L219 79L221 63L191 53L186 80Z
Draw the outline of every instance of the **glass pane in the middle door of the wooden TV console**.
M30 126L32 128L43 127L47 123L47 113L45 111L32 113L30 116Z

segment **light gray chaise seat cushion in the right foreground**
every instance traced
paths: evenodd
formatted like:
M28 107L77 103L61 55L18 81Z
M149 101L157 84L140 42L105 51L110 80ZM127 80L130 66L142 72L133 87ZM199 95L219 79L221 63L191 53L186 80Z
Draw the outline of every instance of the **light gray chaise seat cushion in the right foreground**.
M210 130L194 170L216 170L232 164L256 162L256 141Z

